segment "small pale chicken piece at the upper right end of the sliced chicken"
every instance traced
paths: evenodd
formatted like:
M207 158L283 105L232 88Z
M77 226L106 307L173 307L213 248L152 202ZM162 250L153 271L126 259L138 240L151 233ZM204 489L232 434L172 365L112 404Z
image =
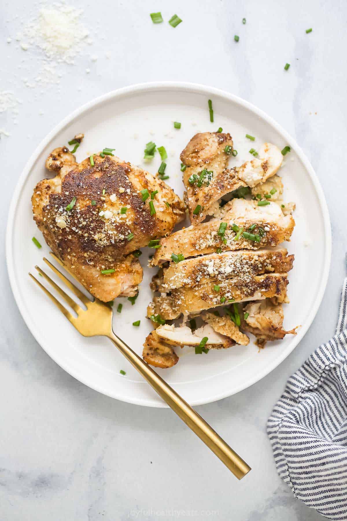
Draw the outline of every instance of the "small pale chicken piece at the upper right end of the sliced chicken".
M258 156L233 168L236 175L249 187L255 187L256 184L265 182L266 179L274 176L283 161L281 151L272 143L264 143Z

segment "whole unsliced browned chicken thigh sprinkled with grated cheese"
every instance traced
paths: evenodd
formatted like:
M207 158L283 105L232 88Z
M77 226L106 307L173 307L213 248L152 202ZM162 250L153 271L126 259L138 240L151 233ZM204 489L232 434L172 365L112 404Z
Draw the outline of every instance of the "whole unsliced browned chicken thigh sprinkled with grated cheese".
M89 292L108 302L136 294L143 271L131 252L170 233L185 206L163 181L118 157L95 154L94 164L89 158L76 163L66 147L56 148L46 162L56 176L37 183L32 206L52 251ZM155 215L142 201L144 189L158 190ZM115 271L102 275L104 269Z

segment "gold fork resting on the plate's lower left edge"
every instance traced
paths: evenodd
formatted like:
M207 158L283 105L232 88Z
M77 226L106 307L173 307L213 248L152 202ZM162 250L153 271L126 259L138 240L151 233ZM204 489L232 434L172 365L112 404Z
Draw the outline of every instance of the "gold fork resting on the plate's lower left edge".
M60 266L67 269L60 259L52 252L55 261ZM104 336L109 338L125 358L138 370L138 372L147 380L150 386L161 396L161 398L172 408L172 410L184 421L188 427L196 433L196 435L211 449L214 454L228 467L229 470L238 478L245 476L251 468L245 463L236 452L229 447L227 443L209 426L209 424L194 411L190 405L174 391L168 383L166 383L140 356L138 356L123 340L117 337L112 330L112 308L94 299L89 300L82 291L80 291L69 279L65 277L52 263L45 257L44 262L50 269L66 284L78 299L86 306L84 310L71 297L63 291L48 275L38 266L36 270L45 280L53 286L59 295L67 302L67 304L78 315L75 318L60 302L38 281L31 273L30 277L38 284L38 286L46 293L46 295L60 309L61 313L71 322L71 324L84 336L95 337ZM74 278L71 271L67 270Z

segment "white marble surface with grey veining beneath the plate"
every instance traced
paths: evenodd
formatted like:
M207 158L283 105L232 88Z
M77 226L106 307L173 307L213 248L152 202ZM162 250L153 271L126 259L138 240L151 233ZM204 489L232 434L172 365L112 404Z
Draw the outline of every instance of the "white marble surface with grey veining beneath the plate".
M346 250L346 5L341 0L78 0L73 5L84 7L82 18L94 43L74 66L59 66L58 84L33 89L23 78L35 78L42 55L23 51L15 35L39 4L2 4L0 90L14 91L23 102L15 118L0 114L0 128L11 133L0 140L2 243L21 169L56 123L91 98L127 84L187 80L245 98L297 139L329 204L331 271L316 319L286 361L251 388L197 407L252 466L238 482L170 410L112 400L60 369L19 315L3 250L0 518L318 520L322 517L294 499L278 478L265 423L288 376L336 327ZM149 13L159 9L166 20L177 13L184 22L176 29L153 26ZM306 34L309 27L313 32ZM234 34L240 36L237 44ZM91 54L98 55L96 62ZM284 71L287 61L291 67Z

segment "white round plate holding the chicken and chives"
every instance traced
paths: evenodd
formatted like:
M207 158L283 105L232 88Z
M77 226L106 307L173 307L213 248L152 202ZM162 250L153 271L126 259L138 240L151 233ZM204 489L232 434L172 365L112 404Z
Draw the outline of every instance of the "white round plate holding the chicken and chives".
M214 123L209 118L209 99L213 101ZM182 123L181 130L174 129L173 121ZM84 132L85 138L76 152L78 161L108 146L115 148L120 158L155 173L159 154L145 164L144 148L148 141L164 145L169 156L167 182L182 196L179 154L194 134L219 127L232 134L238 151L236 158L230 158L230 165L250 159L249 149L259 148L265 141L280 149L291 147L280 169L284 199L297 204L297 225L291 242L285 244L289 253L295 254L295 262L289 274L290 304L284 306L284 327L302 326L297 336L269 342L260 352L253 342L247 347L237 345L199 356L189 348L176 349L181 355L178 364L158 373L190 404L213 402L251 386L280 364L300 342L322 301L331 252L327 204L312 166L287 132L250 103L218 89L176 82L133 85L101 96L64 119L35 150L15 190L8 213L6 253L9 279L20 312L37 342L60 367L87 386L118 400L166 406L109 340L80 336L27 275L35 264L45 269L42 257L48 256L48 247L32 218L33 188L37 181L48 177L45 159L53 148L66 145L76 133ZM255 141L246 139L246 133L254 135ZM32 243L33 236L41 242L41 250ZM151 253L153 250L144 249L140 257L144 280L135 305L126 299L116 299L114 304L114 332L139 354L151 330L145 318L151 300L149 281L155 272L147 268ZM118 302L123 303L121 314L115 312ZM133 327L132 322L138 319L140 327ZM120 375L120 369L126 371L126 376Z

